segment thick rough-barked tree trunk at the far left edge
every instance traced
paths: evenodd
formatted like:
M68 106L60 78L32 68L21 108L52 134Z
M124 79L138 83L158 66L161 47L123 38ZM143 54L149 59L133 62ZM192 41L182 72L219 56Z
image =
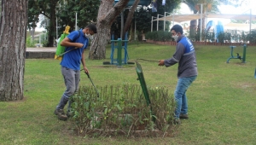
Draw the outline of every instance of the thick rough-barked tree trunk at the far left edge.
M0 101L23 99L27 0L2 2L0 20Z

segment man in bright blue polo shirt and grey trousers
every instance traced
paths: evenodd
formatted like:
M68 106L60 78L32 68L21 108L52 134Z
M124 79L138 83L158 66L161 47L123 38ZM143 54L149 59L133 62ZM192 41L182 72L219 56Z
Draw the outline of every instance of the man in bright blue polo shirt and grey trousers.
M84 72L89 73L85 66L84 50L89 44L90 37L96 32L96 26L90 24L84 27L84 29L71 32L67 38L61 41L61 46L66 46L66 51L73 50L65 54L61 61L61 73L64 78L66 90L61 96L61 101L55 108L54 113L58 116L58 119L67 120L67 114L64 113L63 108L67 104L69 97L73 96L79 90L80 62L83 64Z

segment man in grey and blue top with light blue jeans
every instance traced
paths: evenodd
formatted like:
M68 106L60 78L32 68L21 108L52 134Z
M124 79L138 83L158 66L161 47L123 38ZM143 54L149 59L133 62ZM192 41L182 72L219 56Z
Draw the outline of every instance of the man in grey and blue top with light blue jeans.
M193 44L183 35L183 28L179 25L172 26L172 38L177 42L176 51L172 58L160 60L159 66L171 67L178 63L177 68L177 86L174 91L177 106L175 109L174 124L180 124L179 119L189 119L188 102L186 91L189 85L197 77L197 64L195 59L195 49Z

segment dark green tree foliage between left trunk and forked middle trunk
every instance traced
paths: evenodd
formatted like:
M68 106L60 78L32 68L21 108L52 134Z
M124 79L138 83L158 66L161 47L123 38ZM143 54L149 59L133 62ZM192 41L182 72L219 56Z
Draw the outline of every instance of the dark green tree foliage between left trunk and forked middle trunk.
M44 27L47 29L48 42L46 46L53 46L56 37L56 18L58 20L58 34L60 37L65 26L75 29L76 12L78 13L78 26L84 28L90 20L96 21L100 1L95 0L28 0L28 27L35 26L39 14L43 14Z

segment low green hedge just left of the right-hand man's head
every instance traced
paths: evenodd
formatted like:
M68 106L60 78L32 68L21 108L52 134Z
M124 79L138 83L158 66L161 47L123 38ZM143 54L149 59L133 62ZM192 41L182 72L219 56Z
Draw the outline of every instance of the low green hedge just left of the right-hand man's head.
M158 31L158 32L147 32L145 35L146 39L154 41L173 41L172 34L170 32Z

